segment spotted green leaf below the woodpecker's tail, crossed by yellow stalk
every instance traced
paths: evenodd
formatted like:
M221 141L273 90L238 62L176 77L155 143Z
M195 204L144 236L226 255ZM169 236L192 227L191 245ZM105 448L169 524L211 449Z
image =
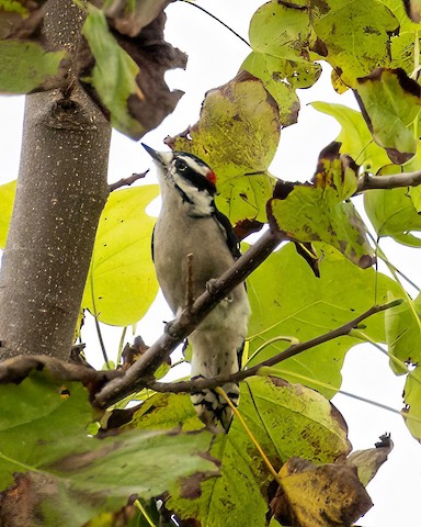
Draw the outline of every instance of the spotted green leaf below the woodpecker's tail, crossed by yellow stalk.
M239 411L275 470L291 456L320 463L350 450L339 413L304 386L247 379L241 383ZM182 484L168 506L201 525L220 525L227 509L230 525L266 525L270 473L236 417L229 434L215 439L210 453L221 461L220 476L198 482L200 490L195 486L190 492Z

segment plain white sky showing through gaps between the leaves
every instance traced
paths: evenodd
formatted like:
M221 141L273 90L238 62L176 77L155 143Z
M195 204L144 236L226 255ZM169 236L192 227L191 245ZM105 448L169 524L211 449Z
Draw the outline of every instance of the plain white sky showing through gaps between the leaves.
M250 18L263 0L203 0L196 3L247 37ZM240 40L193 5L175 2L169 5L167 12L167 40L186 52L190 58L186 71L171 71L167 76L170 86L182 89L185 96L174 113L143 139L157 149L163 149L162 139L167 135L174 135L197 121L204 93L230 80L249 53ZM331 117L306 106L306 103L325 100L355 108L352 93L340 97L333 91L329 74L323 75L310 90L301 90L300 99L303 109L299 122L282 132L281 145L271 166L272 173L283 179L309 179L318 153L339 132L338 124ZM23 98L0 97L0 184L15 179L18 175L22 117ZM110 182L149 166L150 159L137 143L118 133L113 134ZM152 180L150 176L145 183ZM403 246L396 247L387 243L384 249L395 265L421 283L420 253ZM140 321L136 334L143 335L151 344L162 329L160 321L170 318L170 311L161 300ZM89 358L100 367L101 352L92 335L93 330L88 329ZM120 335L120 330L104 329L105 341L111 343L112 347L111 358ZM376 349L368 346L353 348L346 356L343 377L343 390L400 410L403 380L390 372L387 358ZM357 524L364 527L418 527L421 450L402 418L343 395L338 395L334 403L349 424L350 439L355 449L371 448L385 431L391 433L395 442L388 462L368 486L375 506Z

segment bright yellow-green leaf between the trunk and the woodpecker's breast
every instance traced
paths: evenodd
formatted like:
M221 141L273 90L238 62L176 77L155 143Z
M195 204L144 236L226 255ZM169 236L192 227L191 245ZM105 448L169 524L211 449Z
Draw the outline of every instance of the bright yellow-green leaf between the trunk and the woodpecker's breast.
M114 191L102 212L82 307L105 324L135 324L158 292L150 249L156 220L145 212L158 192L157 184Z

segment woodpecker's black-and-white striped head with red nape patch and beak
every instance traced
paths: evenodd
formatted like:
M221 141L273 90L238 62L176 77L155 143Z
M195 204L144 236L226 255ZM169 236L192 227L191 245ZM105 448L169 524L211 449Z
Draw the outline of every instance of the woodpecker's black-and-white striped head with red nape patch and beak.
M162 200L166 191L177 191L192 216L209 216L215 211L216 175L206 162L185 152L157 152L141 144L158 166Z

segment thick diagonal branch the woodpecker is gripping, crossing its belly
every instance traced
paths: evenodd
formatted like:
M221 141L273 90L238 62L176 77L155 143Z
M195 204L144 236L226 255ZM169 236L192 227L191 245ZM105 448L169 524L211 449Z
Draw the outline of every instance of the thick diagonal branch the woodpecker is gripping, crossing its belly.
M158 367L205 318L205 316L257 267L277 245L287 239L284 233L268 231L235 265L213 282L212 291L205 291L191 306L167 325L161 337L127 370L121 379L111 381L96 395L94 403L103 408L120 399L139 391L150 381Z

